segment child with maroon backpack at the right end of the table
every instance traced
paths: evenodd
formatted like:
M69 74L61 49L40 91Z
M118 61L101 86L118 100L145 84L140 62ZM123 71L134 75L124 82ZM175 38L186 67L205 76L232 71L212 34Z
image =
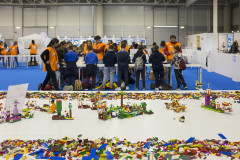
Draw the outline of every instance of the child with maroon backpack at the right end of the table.
M183 84L183 88L187 89L187 85L186 82L183 78L182 75L182 70L179 69L179 63L181 61L181 59L183 59L182 54L179 52L180 48L179 46L174 46L174 56L173 56L173 60L171 62L171 66L174 65L174 72L175 72L175 76L176 76L176 80L177 80L177 88L176 90L181 90L181 84Z

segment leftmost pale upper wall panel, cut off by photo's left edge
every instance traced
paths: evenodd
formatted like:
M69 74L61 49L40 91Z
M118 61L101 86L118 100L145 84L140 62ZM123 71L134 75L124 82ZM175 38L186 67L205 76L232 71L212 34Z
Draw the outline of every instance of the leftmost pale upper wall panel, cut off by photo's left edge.
M13 25L13 8L9 6L0 6L1 23L0 26Z

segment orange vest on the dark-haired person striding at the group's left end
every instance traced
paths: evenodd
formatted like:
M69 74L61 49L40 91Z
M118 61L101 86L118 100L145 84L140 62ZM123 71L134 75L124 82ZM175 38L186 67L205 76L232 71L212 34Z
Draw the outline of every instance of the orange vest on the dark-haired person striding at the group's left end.
M53 71L56 71L58 69L57 67L57 62L58 62L58 55L57 52L54 48L52 47L47 47L47 50L49 51L49 61L50 61L50 66ZM43 64L43 72L47 71L46 70L46 64Z

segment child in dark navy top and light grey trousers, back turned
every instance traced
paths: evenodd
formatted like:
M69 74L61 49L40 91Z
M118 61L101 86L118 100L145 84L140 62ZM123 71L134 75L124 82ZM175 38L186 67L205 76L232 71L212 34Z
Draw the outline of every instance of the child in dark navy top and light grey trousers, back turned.
M113 88L114 65L116 64L116 62L117 62L117 57L114 52L114 46L110 45L108 46L107 53L103 56L103 64L105 65L103 84L102 84L103 89L105 89L108 75L110 79L110 89Z

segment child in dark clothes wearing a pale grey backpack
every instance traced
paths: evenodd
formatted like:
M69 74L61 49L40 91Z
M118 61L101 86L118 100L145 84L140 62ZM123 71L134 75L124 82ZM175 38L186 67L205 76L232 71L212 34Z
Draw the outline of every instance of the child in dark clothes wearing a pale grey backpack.
M133 63L136 62L136 59L138 57L141 57L142 60L143 60L143 69L136 70L136 90L139 90L139 77L140 77L140 74L141 74L141 77L142 77L143 90L145 90L145 63L147 62L147 59L146 59L146 55L144 54L143 50L144 50L143 46L138 46L138 51L137 51L137 53L134 54L134 57L133 57L133 60L132 60Z

